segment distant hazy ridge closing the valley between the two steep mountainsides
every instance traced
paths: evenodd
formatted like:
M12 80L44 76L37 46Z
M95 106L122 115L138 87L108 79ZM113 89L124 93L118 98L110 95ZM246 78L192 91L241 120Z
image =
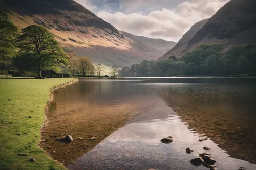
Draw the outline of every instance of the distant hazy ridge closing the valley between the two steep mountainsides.
M177 44L177 42L174 42L174 41L166 41L163 39L155 39L155 38L137 36L137 35L133 35L133 34L130 34L130 33L124 32L124 31L120 31L120 32L125 37L130 38L131 40L140 41L147 45L153 46L158 51L161 51L163 53L166 53L167 51L169 51L171 48L173 48Z

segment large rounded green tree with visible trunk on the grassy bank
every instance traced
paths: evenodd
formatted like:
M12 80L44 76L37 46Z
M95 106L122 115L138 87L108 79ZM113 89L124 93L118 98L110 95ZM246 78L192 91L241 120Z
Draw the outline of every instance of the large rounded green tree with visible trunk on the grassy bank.
M30 64L37 67L38 78L42 78L44 68L68 65L68 57L44 27L29 26L23 29L18 37L18 47L21 57L30 56Z

